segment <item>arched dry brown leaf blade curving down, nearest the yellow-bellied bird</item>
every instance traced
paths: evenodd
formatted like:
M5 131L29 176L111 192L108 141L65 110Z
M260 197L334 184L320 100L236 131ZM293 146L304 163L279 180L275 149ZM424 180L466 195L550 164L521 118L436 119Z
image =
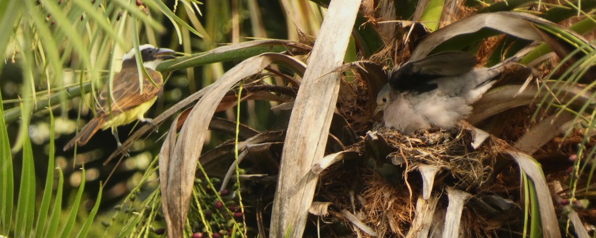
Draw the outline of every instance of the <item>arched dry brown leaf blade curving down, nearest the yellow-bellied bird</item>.
M167 196L164 199L163 208L168 237L182 237L197 162L203 149L209 122L219 102L232 86L248 76L259 73L274 61L283 61L297 70L305 67L300 61L277 53L265 53L248 58L226 72L221 79L209 85L209 91L204 92L204 96L197 101L188 114L175 146L172 145L171 140L175 137L176 126L171 127L169 140L166 141L160 153L160 175L163 176L161 188L162 194ZM167 159L161 160L162 156Z

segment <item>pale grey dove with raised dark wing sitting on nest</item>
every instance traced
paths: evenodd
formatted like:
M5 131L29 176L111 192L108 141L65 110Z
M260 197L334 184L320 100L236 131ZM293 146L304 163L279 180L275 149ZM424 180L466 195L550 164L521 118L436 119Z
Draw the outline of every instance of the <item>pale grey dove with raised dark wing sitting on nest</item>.
M445 51L394 67L377 95L374 114L383 111L384 126L406 135L431 126L451 129L504 69L504 63L491 68L476 64L476 55L469 52Z

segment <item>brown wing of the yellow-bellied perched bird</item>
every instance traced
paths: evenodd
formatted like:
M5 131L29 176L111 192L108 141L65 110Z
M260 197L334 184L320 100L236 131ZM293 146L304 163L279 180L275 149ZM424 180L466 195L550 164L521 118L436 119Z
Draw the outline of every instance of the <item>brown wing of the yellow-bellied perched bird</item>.
M113 97L109 98L112 116L133 109L162 93L162 75L159 72L150 69L147 69L147 73L157 86L153 85L147 76L143 76L142 91L139 90L139 76L137 70L121 71L114 76ZM98 115L110 115L110 109L107 107L108 97L108 87L105 85L97 100L96 108L98 109Z

